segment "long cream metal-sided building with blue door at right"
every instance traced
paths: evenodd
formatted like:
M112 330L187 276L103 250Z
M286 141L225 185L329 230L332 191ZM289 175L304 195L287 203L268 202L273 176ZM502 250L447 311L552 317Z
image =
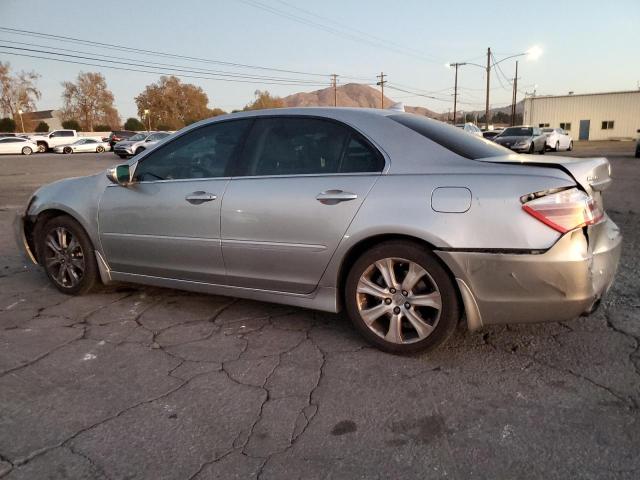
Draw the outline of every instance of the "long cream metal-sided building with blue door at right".
M635 138L640 90L527 97L523 123L564 128L576 140Z

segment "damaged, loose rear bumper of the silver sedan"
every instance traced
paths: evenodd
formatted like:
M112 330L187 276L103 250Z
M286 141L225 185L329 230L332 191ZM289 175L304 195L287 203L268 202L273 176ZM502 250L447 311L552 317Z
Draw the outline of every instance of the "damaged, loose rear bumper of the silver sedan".
M613 282L621 242L606 218L565 234L544 253L436 253L456 277L469 328L477 329L592 312Z

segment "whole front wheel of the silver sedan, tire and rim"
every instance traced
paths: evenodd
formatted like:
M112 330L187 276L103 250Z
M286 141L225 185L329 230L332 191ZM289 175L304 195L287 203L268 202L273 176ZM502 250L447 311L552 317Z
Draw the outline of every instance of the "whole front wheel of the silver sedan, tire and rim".
M98 280L89 236L71 217L61 215L36 225L36 251L53 285L67 295L82 295Z

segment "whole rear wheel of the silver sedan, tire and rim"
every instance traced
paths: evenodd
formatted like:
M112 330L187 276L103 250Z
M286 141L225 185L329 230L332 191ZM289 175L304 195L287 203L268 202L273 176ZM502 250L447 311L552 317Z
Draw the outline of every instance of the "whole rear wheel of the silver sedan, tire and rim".
M408 241L383 242L365 252L349 271L344 303L365 339L390 353L434 349L460 319L449 274L432 253Z

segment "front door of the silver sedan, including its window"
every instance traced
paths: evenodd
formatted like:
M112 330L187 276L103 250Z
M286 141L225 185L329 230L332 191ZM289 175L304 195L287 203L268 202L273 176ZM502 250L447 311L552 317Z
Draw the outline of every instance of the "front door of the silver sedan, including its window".
M105 189L98 223L113 271L224 282L220 206L250 123L191 130L144 156L129 187Z

